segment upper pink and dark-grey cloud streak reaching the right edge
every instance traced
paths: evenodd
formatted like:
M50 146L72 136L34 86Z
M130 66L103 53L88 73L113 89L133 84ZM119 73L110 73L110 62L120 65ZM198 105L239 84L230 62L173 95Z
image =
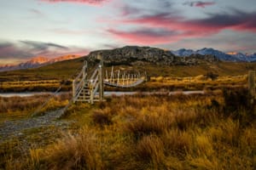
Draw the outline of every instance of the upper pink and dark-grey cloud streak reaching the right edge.
M207 35L224 29L236 31L256 31L256 13L212 14L206 19L186 20L170 14L155 14L135 19L119 20L123 24L150 26L177 31L189 31L192 34Z

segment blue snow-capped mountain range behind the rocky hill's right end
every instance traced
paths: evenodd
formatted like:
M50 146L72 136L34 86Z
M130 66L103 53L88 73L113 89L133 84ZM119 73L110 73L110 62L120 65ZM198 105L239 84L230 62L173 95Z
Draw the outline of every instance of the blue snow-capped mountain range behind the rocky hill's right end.
M181 48L176 51L171 50L172 54L175 54L176 56L183 56L183 57L189 57L193 54L211 54L217 57L220 60L224 61L233 61L233 62L255 62L256 61L256 53L254 54L242 54L242 53L224 53L222 51L218 51L217 49L213 48L201 48L198 50L192 50L192 49L185 49Z

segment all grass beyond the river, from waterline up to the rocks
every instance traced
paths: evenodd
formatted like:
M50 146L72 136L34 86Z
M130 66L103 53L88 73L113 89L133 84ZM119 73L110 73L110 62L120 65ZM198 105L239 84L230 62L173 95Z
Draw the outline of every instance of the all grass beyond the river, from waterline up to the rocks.
M72 59L46 65L40 68L0 72L0 92L26 91L55 91L60 86L61 91L70 91L72 81L77 76L84 59ZM106 67L108 72L111 66ZM204 88L222 88L226 86L242 86L246 83L247 72L256 70L256 63L218 62L201 65L172 65L156 66L149 63L144 65L115 65L114 70L146 71L151 80L137 88L122 90L147 91L156 89L166 90L199 90ZM204 75L213 73L218 79L209 81ZM107 88L107 90L119 90Z

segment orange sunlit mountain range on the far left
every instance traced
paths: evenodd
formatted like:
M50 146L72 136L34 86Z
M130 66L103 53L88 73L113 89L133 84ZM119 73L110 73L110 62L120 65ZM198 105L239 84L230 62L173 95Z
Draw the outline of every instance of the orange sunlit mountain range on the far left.
M26 62L20 63L18 65L0 65L0 71L15 71L15 70L22 70L22 69L29 69L29 68L37 68L44 65L53 64L58 61L67 60L67 59L77 59L81 57L80 55L64 55L60 57L56 57L54 59L49 59L46 57L35 57Z

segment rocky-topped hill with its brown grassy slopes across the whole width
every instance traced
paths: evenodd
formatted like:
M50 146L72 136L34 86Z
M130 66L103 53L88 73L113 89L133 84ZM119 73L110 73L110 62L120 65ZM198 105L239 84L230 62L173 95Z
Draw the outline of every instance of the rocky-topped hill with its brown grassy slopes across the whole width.
M247 74L247 71L250 70L256 70L256 63L224 62L212 56L197 54L189 58L181 58L159 48L139 49L141 51L131 47L99 50L79 59L56 62L40 68L0 72L0 82L73 79L81 70L84 59L99 61L96 59L97 54L103 55L104 65L108 70L114 65L115 69L147 71L150 77L194 77L205 75L210 71L220 76L237 76ZM160 57L157 57L158 54Z

